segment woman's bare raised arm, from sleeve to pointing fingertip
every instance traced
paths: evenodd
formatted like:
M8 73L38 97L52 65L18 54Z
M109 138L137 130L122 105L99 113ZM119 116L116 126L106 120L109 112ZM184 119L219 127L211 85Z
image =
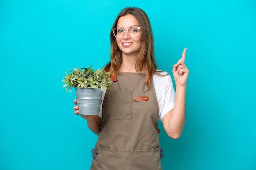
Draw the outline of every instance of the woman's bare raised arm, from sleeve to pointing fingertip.
M176 83L175 103L173 110L162 118L164 130L173 139L180 137L185 123L186 81L189 75L189 70L184 64L185 55L186 48L183 50L182 59L173 65L173 77Z

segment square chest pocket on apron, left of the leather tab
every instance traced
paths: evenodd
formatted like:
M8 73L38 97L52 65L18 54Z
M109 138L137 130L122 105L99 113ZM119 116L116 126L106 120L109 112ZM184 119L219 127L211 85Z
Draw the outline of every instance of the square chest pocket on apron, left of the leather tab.
M112 91L110 119L132 119L132 92Z

